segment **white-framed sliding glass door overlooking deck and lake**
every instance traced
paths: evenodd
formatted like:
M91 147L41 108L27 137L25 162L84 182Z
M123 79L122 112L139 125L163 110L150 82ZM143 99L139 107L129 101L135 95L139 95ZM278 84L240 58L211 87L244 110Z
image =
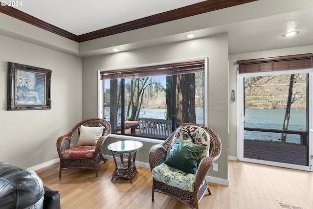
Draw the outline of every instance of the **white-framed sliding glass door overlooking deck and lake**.
M311 76L311 70L238 74L240 160L308 169Z

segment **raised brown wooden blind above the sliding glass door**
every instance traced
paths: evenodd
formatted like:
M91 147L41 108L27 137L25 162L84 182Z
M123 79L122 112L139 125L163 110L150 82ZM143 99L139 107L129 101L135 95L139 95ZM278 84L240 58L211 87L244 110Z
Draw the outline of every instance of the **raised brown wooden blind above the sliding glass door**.
M238 60L239 73L301 70L313 68L313 53Z

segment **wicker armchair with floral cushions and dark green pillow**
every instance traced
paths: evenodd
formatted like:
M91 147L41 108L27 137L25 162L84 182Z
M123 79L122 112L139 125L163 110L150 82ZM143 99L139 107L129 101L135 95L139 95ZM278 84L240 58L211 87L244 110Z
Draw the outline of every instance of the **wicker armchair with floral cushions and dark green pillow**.
M211 195L205 176L220 154L221 139L212 129L202 125L178 128L150 149L152 201L156 191L198 209L205 190Z

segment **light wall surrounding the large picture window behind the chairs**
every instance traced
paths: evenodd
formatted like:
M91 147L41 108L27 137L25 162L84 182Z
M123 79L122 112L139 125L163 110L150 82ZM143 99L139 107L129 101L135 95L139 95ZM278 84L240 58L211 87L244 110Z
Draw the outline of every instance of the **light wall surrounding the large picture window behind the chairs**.
M173 62L184 59L208 57L208 126L222 139L222 155L217 161L219 171L209 175L228 179L227 138L228 138L228 39L227 34L188 40L184 42L150 46L108 55L83 59L83 119L98 116L97 73L98 70ZM107 145L105 144L104 147ZM150 149L151 146L146 146ZM148 163L149 150L140 149L136 159Z

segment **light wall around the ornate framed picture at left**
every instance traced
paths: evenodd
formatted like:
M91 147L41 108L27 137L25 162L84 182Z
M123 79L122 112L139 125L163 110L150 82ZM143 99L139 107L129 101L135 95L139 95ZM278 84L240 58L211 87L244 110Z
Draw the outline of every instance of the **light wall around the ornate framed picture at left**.
M0 161L28 168L57 159L57 138L82 118L81 58L3 35L0 46ZM7 62L52 70L51 110L7 111Z

